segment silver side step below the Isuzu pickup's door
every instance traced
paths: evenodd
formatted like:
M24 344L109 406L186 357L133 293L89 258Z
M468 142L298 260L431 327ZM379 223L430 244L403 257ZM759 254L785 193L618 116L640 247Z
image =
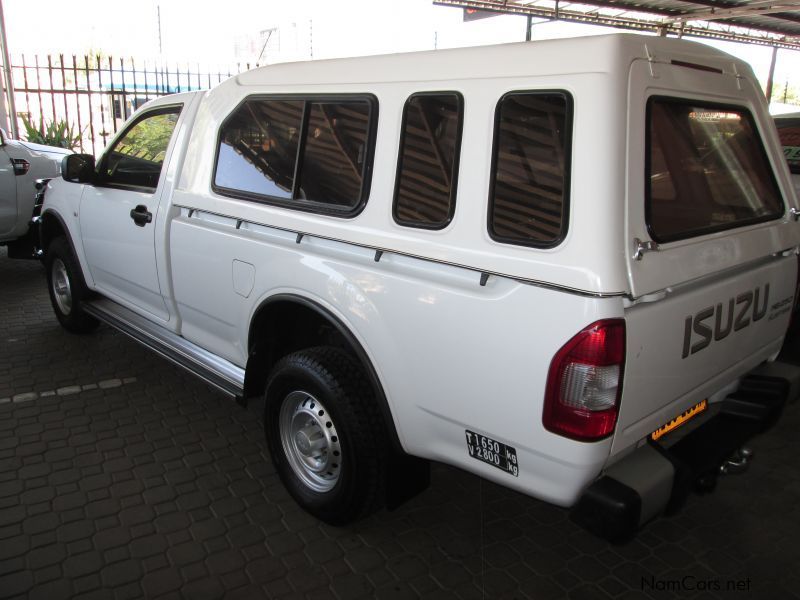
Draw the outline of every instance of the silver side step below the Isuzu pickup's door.
M107 298L83 303L83 309L167 360L197 375L225 394L244 396L244 369L167 331Z

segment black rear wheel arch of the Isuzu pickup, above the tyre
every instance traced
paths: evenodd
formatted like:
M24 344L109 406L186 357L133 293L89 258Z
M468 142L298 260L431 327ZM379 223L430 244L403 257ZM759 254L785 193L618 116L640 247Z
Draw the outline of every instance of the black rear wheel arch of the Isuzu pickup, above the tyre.
M383 384L361 342L350 328L319 302L299 294L281 293L264 300L250 321L245 396L263 392L273 365L287 354L320 341L350 352L364 367L392 447L403 450Z

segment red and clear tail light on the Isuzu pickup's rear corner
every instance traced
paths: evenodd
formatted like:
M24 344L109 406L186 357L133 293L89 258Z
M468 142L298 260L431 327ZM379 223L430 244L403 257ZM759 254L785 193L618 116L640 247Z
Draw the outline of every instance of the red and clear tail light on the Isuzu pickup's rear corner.
M625 321L596 321L553 357L542 422L548 431L581 441L614 432L625 367Z

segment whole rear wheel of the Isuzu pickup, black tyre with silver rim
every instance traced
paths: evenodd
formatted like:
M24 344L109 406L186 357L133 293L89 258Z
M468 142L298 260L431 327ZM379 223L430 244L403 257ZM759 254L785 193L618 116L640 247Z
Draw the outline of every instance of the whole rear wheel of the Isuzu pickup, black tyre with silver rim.
M384 501L387 440L362 367L336 348L283 358L270 374L264 428L286 489L331 525Z

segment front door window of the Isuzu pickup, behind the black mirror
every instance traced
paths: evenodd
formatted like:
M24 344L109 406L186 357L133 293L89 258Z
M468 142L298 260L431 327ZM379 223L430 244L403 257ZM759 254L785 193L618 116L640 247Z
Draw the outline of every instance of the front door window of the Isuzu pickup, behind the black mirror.
M174 106L140 117L104 155L100 181L155 189L180 112Z

